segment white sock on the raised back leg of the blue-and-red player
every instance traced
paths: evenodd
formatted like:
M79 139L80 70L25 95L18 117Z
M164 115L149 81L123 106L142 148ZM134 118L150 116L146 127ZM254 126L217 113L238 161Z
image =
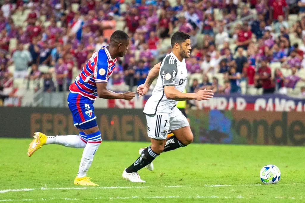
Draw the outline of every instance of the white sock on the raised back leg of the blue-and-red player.
M59 144L73 148L85 148L86 146L86 143L78 135L48 136L45 144Z

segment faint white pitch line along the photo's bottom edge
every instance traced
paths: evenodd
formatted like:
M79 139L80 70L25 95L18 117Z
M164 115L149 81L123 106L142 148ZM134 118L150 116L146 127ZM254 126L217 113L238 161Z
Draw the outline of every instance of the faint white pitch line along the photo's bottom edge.
M227 196L186 196L186 197L181 197L181 196L151 196L151 197L139 197L139 196L132 196L132 197L110 197L109 200L114 200L114 199L218 199L218 198L224 198L224 199L230 199L230 198L244 198L241 195L238 195L236 197L227 197ZM248 197L246 199L251 199L252 197ZM254 197L257 198L257 197ZM300 198L294 198L294 197L268 197L266 199L303 199L303 197ZM105 199L105 197L98 197L98 198L86 198L86 200L101 200ZM4 201L58 201L58 200L74 200L74 201L81 201L83 199L77 199L77 198L48 198L48 199L0 199L0 202Z

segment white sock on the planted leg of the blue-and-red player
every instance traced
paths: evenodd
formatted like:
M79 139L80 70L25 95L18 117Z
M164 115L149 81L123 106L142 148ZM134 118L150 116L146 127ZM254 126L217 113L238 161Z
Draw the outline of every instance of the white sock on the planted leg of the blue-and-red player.
M87 176L86 173L91 166L95 152L99 148L100 144L101 143L87 142L87 144L84 148L83 157L81 158L81 163L79 165L79 169L78 169L78 173L77 173L78 178Z

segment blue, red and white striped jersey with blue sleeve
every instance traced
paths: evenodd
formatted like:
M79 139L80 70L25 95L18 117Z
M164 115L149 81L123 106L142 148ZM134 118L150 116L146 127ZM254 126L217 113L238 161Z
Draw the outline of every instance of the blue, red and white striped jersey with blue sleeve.
M116 58L111 58L107 46L92 54L74 83L70 85L70 92L81 94L91 100L97 98L96 83L108 82L117 62Z

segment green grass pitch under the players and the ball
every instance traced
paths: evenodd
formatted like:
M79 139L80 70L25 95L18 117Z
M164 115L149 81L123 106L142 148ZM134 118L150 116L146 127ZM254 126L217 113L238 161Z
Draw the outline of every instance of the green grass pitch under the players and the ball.
M82 149L46 145L27 157L30 141L0 139L0 202L305 201L304 147L191 144L140 170L146 183L131 183L122 172L149 143L103 141L87 173L99 187L80 187ZM261 183L267 164L281 170L278 184Z

